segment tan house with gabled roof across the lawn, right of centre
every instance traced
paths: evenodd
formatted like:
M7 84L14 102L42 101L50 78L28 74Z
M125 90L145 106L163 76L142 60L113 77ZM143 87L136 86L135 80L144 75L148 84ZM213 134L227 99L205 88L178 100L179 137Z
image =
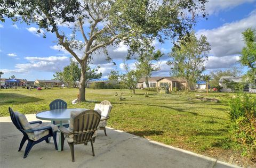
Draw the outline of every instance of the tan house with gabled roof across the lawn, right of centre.
M148 78L149 88L161 87L164 83L168 83L170 86L170 91L173 88L177 88L179 90L186 87L187 82L186 79L183 78L176 78L176 77L150 77ZM139 89L147 88L146 79L141 78L137 84Z

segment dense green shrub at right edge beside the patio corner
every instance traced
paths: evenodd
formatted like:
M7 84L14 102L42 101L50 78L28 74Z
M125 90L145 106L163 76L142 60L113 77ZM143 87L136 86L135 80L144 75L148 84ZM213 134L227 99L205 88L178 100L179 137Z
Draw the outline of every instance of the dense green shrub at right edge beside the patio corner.
M256 98L237 95L229 101L231 133L243 149L243 155L256 159Z

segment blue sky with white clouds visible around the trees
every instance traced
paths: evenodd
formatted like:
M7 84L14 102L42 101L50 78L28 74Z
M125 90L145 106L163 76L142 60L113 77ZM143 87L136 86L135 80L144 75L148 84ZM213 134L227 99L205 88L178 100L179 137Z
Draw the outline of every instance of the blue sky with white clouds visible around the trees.
M200 19L195 27L197 35L205 35L212 48L209 61L205 63L205 73L238 65L239 53L244 46L241 32L248 27L256 28L255 9L256 0L209 1L206 6L208 20ZM54 72L61 71L69 64L70 55L56 45L55 35L47 33L47 37L43 38L36 34L36 30L35 25L14 25L9 19L0 22L0 71L4 72L2 78L9 78L14 74L17 78L27 80L52 79ZM63 30L68 31L67 28ZM168 76L170 67L166 65L167 53L171 51L172 44L170 41L165 44L154 41L154 45L165 56L157 63L161 69L153 72L153 76ZM117 63L116 66L108 63L102 53L95 54L92 63L101 66L99 71L103 77L107 77L111 70L124 72L127 47L121 44L119 48L109 47L108 50ZM127 63L131 69L135 67L134 60Z

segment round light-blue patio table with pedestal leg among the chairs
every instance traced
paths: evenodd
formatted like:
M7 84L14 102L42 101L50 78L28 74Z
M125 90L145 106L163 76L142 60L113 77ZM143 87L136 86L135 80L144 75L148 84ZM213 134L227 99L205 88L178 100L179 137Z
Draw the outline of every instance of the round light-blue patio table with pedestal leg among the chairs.
M50 120L50 121L60 121L60 127L62 127L62 121L70 120L70 113L71 112L83 112L87 110L86 108L62 108L62 109L55 109L49 111L43 111L36 114L37 119L41 120ZM61 151L61 132L59 136L59 147L58 150Z

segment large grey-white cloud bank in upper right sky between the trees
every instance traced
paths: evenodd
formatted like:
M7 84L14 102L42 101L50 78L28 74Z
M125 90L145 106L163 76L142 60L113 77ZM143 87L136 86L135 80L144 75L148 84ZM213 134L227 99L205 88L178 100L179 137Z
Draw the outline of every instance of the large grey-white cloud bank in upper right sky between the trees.
M256 28L256 11L247 18L225 23L221 27L211 30L199 30L197 35L205 35L211 45L210 55L222 57L241 53L244 46L242 32L249 28Z

